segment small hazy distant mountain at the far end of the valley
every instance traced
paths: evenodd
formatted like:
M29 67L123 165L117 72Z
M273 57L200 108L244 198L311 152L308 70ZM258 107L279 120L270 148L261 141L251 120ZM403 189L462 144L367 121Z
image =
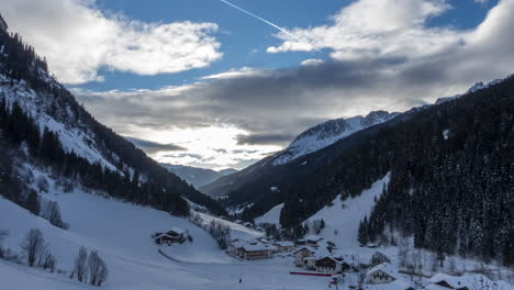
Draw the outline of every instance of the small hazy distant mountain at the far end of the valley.
M227 168L220 171L214 171L212 169L205 168L198 168L191 166L183 166L183 165L171 165L171 164L161 164L161 166L168 171L175 174L176 176L182 178L191 186L199 188L206 183L211 183L212 181L237 172L237 170Z

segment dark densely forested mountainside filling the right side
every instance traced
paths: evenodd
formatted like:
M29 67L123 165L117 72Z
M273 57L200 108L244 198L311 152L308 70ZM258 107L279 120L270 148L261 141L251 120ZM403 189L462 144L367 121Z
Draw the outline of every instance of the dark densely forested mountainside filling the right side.
M298 227L388 176L360 222L361 244L412 237L442 255L513 265L513 129L514 76L357 132L321 150L346 146L282 192L280 223Z

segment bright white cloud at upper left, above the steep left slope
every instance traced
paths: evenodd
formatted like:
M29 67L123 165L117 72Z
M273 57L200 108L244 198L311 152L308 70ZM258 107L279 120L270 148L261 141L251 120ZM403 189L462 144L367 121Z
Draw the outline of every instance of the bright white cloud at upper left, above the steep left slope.
M0 0L19 32L65 83L102 81L101 68L138 75L178 72L222 57L214 23L144 23L100 11L93 0Z

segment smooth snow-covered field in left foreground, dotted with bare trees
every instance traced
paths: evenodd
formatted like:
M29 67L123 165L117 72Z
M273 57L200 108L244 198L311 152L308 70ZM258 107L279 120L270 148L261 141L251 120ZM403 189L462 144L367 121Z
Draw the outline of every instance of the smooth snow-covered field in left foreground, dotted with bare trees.
M51 191L52 192L52 191ZM58 269L69 271L80 246L99 250L109 267L102 289L324 289L327 278L290 276L291 258L265 261L238 261L217 248L215 241L192 223L149 208L121 203L76 190L60 193L56 189L44 198L59 203L68 231L51 225L0 198L0 228L10 235L4 247L20 252L20 241L30 228L40 228ZM202 215L206 220L208 215ZM212 217L211 217L212 219ZM257 236L259 232L227 223L235 235ZM150 238L156 231L172 226L189 230L193 243L166 247L166 253L183 260L161 256ZM0 261L2 285L11 289L97 289L68 279L7 261ZM5 277L5 278L3 278ZM266 279L262 279L266 277ZM239 283L239 278L243 282Z

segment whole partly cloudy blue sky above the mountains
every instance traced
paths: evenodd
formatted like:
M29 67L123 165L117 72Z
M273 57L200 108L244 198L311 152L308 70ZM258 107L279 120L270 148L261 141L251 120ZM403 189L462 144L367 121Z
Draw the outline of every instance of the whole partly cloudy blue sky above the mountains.
M246 12L245 12L246 11ZM244 168L320 122L511 75L514 0L0 0L97 120L158 161Z

